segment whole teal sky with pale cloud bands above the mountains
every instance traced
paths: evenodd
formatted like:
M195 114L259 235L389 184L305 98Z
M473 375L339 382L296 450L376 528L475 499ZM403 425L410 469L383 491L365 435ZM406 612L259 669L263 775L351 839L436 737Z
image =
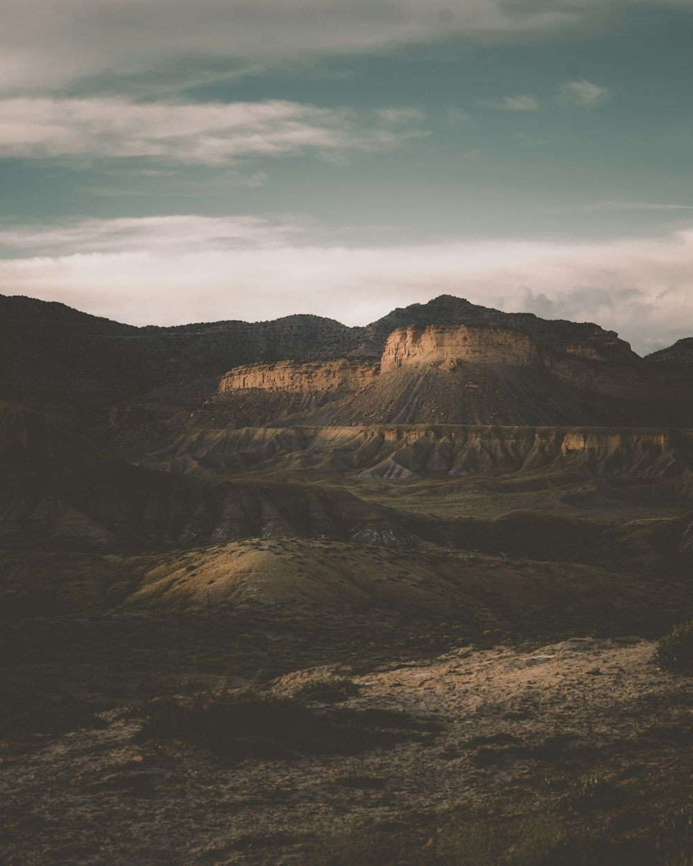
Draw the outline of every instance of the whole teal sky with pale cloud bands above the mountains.
M693 0L0 0L0 294L693 335Z

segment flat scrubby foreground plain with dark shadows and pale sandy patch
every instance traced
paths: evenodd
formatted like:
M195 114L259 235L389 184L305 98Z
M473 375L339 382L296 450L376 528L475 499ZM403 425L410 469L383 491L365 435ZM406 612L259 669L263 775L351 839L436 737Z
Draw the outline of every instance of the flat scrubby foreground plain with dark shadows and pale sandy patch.
M3 863L691 862L693 681L654 642L383 626L3 629Z

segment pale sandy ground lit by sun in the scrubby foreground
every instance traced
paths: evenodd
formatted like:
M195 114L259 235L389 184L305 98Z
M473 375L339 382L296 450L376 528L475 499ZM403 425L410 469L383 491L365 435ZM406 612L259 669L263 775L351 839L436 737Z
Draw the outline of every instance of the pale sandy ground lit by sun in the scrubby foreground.
M690 773L667 732L690 729L693 681L658 670L653 649L638 638L462 648L355 676L358 695L344 706L440 726L356 759L219 766L191 746L136 745L139 723L120 708L103 714L102 729L5 743L0 860L301 864L316 839L361 821L470 803L508 814L556 766L646 782L653 801L665 799ZM268 688L290 692L315 673Z

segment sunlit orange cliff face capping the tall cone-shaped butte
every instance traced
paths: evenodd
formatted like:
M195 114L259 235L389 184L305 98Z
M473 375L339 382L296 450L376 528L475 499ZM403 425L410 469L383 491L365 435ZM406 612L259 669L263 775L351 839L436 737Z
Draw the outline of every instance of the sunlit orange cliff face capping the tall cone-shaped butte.
M382 372L411 364L539 366L537 345L527 333L500 326L430 325L398 328L385 344Z

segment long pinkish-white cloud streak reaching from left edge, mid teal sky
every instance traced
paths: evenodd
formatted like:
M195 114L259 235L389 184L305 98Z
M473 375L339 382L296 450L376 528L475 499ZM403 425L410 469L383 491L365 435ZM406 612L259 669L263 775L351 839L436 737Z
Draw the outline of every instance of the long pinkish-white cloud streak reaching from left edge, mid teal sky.
M137 103L123 99L0 100L0 156L150 157L223 165L259 154L330 154L397 145L423 134L410 112L366 123L346 108L267 100Z

